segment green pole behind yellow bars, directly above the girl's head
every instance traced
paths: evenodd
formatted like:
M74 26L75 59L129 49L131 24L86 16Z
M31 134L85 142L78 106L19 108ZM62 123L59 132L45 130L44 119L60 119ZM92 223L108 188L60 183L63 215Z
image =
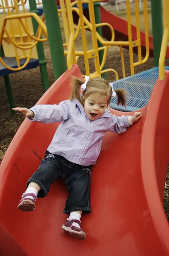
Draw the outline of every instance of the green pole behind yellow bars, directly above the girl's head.
M100 3L99 2L95 2L94 3L94 12L95 12L95 22L96 24L101 23L101 17L100 17ZM102 29L101 27L96 28L96 31L98 32L98 34L102 37ZM98 47L103 47L103 45L99 42L99 40L97 41ZM103 54L104 54L104 50L99 51L99 63L101 65L102 59L103 59ZM103 70L105 70L105 64L103 67ZM104 79L107 79L106 73L102 74L102 77Z

